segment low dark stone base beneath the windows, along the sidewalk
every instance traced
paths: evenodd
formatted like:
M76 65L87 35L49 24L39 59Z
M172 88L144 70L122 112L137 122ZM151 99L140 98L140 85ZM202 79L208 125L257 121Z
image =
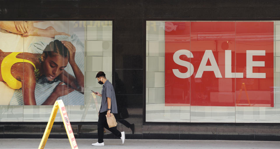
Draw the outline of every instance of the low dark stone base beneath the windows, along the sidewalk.
M0 125L0 138L28 138L28 139L40 139L43 136L46 125ZM76 128L80 127L78 130ZM229 126L229 125L142 125L142 128L148 127L142 134L132 134L129 131L118 129L126 132L126 139L176 139L176 140L250 140L250 141L280 141L280 127L279 126ZM173 131L167 133L171 129L164 129L166 127L173 128L192 128L194 131ZM223 132L218 132L218 127L223 127ZM232 131L233 127L238 127L236 131ZM11 129L13 128L13 129ZM79 139L98 139L97 129L86 129L86 128L97 128L96 124L93 125L72 125L74 130L75 138ZM217 131L209 134L209 128L216 128ZM76 130L75 130L76 129ZM88 130L88 132L86 130ZM155 132L155 130L161 129L161 131ZM241 129L252 130L251 133L238 132ZM273 133L265 132L267 129L272 129ZM263 133L262 133L263 132ZM223 134L220 134L223 133ZM66 139L67 134L64 125L53 125L53 129L50 132L49 138L54 139ZM105 129L104 139L119 139L114 136L111 132Z

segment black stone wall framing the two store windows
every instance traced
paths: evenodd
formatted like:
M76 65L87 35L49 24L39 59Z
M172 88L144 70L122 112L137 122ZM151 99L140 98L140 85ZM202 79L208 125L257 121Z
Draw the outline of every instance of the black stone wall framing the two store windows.
M135 132L117 116L127 139L280 141L279 125L143 125L146 20L280 20L278 0L0 0L0 20L113 20L113 85ZM120 81L121 80L121 81ZM122 83L120 83L122 82ZM124 118L127 115L123 116ZM0 122L0 138L41 138L46 123ZM97 125L72 123L76 138L97 138ZM50 138L67 138L56 123ZM106 131L105 138L115 138Z

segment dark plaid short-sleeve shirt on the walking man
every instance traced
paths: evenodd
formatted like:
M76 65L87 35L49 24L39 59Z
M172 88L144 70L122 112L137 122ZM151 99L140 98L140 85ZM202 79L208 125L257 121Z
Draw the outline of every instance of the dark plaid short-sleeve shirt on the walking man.
M102 100L101 100L101 106L99 113L108 111L108 103L107 103L107 98L111 98L111 113L118 113L118 108L117 108L117 101L116 101L116 96L115 96L115 90L111 82L109 80L106 80L102 87Z

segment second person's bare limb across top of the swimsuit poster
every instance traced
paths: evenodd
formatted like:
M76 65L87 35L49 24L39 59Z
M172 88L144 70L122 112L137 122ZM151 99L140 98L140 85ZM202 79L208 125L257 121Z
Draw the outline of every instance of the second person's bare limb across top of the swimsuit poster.
M23 36L42 36L54 38L56 35L67 35L64 32L58 32L53 27L41 29L33 26L33 21L0 21L0 28L6 31L22 34Z

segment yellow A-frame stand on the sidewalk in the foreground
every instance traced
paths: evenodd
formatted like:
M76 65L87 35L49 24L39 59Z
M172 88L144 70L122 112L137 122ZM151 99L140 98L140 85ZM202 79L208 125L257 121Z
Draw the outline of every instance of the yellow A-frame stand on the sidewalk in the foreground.
M48 137L50 135L50 130L53 127L53 122L55 121L55 116L56 116L58 109L60 111L60 114L61 114L61 117L63 120L63 124L66 129L68 139L70 141L71 148L78 149L78 145L76 143L76 139L74 137L73 130L71 128L70 121L68 119L68 115L67 115L67 112L66 112L66 109L65 109L65 106L64 106L62 100L55 101L55 104L53 105L53 110L52 110L52 113L50 114L50 119L48 121L48 125L46 127L45 133L43 135L43 138L41 140L41 143L40 143L38 149L43 149L45 147Z

